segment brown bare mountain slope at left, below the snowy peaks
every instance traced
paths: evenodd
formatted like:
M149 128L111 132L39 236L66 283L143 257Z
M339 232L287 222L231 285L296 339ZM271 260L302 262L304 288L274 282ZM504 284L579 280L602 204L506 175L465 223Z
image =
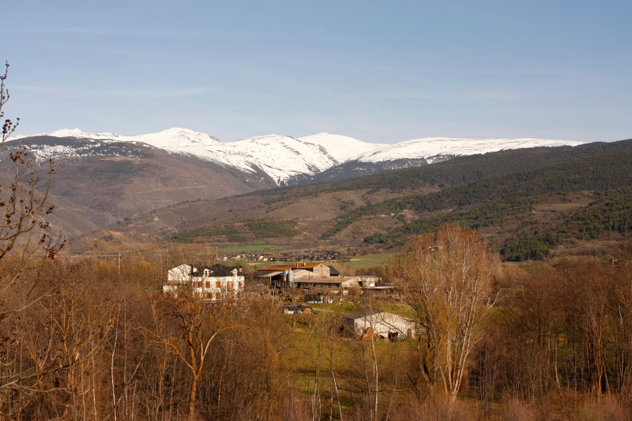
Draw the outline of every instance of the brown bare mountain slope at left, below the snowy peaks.
M70 238L174 203L276 186L263 172L246 174L140 142L37 136L22 145L37 155L41 180L47 179L48 158L58 166L51 186L52 222ZM9 154L17 147L13 140L1 148L1 174L15 172Z

